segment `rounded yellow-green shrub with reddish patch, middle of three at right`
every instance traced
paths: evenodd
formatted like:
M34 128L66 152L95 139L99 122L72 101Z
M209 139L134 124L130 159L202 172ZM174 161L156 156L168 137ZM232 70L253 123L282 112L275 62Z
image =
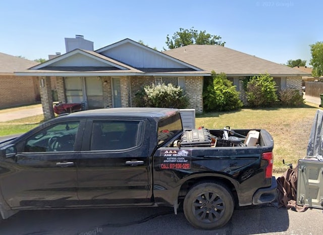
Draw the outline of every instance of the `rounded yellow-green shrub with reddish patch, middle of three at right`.
M269 74L253 76L247 83L247 101L252 107L274 106L278 101L277 85Z

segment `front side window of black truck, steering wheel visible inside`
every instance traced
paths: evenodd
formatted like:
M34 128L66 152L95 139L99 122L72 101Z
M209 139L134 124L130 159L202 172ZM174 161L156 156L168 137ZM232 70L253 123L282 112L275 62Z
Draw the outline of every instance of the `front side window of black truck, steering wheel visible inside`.
M26 140L24 152L73 151L79 122L55 124Z

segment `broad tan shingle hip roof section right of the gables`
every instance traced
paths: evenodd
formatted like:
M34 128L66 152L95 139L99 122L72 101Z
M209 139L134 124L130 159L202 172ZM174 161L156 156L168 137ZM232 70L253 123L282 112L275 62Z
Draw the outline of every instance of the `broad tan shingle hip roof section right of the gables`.
M195 65L207 72L224 72L227 76L250 76L268 73L272 76L306 76L308 73L280 65L220 45L187 45L163 53Z

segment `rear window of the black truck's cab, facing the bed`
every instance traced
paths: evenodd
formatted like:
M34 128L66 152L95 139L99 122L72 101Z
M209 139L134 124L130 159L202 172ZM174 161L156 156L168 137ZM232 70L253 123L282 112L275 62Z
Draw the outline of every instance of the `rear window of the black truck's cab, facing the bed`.
M182 130L183 127L180 113L161 120L160 122L158 122L158 145L171 139L174 135L181 132Z

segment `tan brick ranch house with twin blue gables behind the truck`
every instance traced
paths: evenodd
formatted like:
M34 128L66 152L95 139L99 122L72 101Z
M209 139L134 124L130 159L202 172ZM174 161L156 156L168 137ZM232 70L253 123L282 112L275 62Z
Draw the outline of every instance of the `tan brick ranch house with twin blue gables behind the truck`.
M227 47L188 45L157 51L131 39L97 50L83 36L65 38L67 52L40 65L19 71L37 76L45 119L53 118L50 77L56 77L59 100L84 102L86 108L133 107L135 93L144 85L172 83L184 89L188 108L203 111L203 78L225 72L241 89L240 80L271 74L280 89L301 89L304 73Z

